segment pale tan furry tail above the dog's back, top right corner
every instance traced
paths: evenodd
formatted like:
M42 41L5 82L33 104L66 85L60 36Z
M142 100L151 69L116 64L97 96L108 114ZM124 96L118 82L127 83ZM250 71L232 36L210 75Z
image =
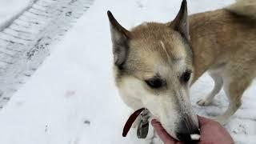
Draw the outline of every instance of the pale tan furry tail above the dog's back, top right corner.
M233 5L226 7L226 10L256 19L256 0L237 0Z

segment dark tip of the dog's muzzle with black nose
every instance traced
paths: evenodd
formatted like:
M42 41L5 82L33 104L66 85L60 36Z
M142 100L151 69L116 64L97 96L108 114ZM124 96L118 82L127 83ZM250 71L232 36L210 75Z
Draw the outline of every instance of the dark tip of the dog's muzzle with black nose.
M178 131L176 131L177 138L182 142L191 142L191 134L200 134L198 126L192 121L182 120L179 123Z

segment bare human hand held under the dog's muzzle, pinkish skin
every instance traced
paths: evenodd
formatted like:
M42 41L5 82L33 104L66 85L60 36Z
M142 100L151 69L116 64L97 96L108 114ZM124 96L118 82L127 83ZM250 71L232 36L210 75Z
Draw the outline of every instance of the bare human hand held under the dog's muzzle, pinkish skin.
M200 125L201 138L198 144L233 144L234 140L230 134L223 128L218 122L198 116ZM152 126L156 130L158 136L162 139L165 144L182 144L176 139L172 138L166 133L166 130L161 126L160 122L152 120Z

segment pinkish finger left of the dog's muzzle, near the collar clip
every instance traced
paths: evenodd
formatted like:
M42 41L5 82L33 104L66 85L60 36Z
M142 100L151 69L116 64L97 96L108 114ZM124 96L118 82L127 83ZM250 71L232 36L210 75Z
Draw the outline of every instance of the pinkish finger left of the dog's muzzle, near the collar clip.
M166 130L164 130L160 122L158 122L157 120L153 119L151 121L151 125L154 127L154 130L156 130L158 136L162 139L164 143L174 144L175 142L177 142L174 138L170 137L170 135L166 132Z

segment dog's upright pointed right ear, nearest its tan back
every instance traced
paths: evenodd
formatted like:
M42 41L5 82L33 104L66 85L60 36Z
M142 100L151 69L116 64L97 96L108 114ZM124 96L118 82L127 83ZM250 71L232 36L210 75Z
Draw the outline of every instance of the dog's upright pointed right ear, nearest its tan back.
M178 11L178 15L176 16L174 21L170 23L170 26L172 26L174 30L177 30L180 34L182 34L182 37L186 38L187 40L190 40L186 0L182 1L182 6Z

